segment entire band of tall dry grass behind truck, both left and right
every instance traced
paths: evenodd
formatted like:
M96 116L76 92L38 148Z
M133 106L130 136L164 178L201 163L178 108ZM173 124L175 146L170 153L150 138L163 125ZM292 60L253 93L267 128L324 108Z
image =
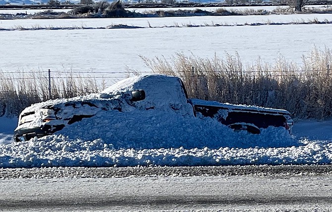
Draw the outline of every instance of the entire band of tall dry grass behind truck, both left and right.
M175 54L146 58L158 74L180 77L191 98L234 104L281 108L293 117L324 119L332 116L332 51L312 48L298 65L279 56L276 62L260 58L242 64L238 54L212 59ZM134 73L139 74L139 72ZM86 76L85 76L86 77ZM48 72L0 72L0 116L17 116L25 107L50 98L68 98L99 92L105 84L79 74L52 73L51 96Z

